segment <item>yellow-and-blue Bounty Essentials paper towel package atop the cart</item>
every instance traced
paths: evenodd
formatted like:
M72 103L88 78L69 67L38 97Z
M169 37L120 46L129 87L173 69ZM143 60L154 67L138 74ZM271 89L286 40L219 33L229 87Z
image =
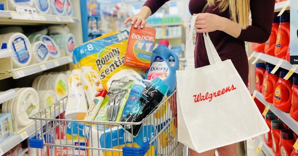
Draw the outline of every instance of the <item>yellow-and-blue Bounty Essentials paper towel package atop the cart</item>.
M73 52L75 68L92 66L100 74L103 87L107 90L107 81L121 70L133 69L144 74L144 70L123 65L128 33L127 30L116 31L77 46Z

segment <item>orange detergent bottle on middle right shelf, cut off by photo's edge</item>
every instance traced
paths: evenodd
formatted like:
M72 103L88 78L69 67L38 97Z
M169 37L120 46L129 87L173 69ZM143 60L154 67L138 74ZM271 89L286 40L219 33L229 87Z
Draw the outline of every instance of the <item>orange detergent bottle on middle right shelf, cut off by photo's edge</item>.
M291 117L298 121L298 74L293 75Z

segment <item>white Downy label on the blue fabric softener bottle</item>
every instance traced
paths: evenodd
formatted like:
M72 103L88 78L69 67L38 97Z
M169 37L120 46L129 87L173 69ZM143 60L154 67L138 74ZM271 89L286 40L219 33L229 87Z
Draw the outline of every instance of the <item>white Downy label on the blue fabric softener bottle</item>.
M155 78L165 80L170 74L167 63L160 56L155 57L154 62L148 70L148 80L154 80Z

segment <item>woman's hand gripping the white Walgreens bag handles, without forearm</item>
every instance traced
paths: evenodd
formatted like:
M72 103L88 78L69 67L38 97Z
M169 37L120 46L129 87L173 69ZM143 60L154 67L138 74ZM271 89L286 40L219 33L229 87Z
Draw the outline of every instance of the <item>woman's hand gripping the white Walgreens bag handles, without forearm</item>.
M215 30L223 30L223 17L210 13L199 13L194 15L198 15L197 19L195 20L196 32L203 33L212 32Z

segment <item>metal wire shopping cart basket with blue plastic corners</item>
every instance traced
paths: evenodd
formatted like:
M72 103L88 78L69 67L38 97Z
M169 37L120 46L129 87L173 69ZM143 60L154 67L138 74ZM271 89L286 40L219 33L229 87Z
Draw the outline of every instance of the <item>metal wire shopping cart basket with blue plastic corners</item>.
M67 97L64 97L30 117L35 120L36 133L29 139L29 145L38 148L37 154L44 153L44 150L57 156L181 156L189 153L177 141L176 91L141 122L60 119L59 114L64 111L66 101ZM133 128L131 132L122 128L126 125L141 127L139 134L131 135Z

